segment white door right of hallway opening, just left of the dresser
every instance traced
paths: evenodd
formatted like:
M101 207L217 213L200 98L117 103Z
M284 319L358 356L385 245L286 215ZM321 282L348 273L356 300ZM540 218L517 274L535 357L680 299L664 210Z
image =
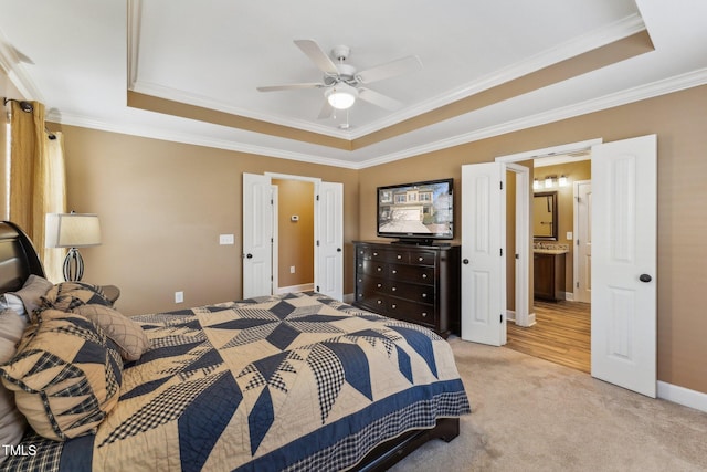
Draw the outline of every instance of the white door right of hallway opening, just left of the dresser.
M344 185L319 183L314 284L317 292L344 300Z

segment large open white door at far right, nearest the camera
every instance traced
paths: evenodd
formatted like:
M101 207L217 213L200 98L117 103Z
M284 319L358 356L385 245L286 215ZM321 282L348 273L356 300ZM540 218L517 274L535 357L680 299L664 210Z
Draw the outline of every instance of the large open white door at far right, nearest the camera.
M656 136L592 147L592 376L656 396Z

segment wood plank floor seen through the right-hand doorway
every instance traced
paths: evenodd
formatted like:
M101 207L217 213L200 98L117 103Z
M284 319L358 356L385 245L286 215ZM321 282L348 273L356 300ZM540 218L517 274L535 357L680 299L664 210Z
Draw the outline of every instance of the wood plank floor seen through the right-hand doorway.
M584 373L591 371L590 304L535 301L536 324L507 324L505 347Z

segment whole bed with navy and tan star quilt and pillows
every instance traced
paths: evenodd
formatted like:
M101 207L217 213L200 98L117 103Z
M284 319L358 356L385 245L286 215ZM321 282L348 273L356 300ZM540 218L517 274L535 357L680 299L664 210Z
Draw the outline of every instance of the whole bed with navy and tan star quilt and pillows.
M0 223L0 293L42 277ZM30 423L0 470L386 470L471 412L444 339L316 292L128 318L97 285L42 283L0 366Z

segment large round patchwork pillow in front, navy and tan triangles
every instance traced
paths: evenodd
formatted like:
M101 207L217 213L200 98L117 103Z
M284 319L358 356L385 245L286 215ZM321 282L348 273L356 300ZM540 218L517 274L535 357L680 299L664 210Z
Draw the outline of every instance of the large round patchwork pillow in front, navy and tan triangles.
M123 359L115 344L84 316L46 310L24 332L0 377L39 434L65 440L95 433L118 401Z

